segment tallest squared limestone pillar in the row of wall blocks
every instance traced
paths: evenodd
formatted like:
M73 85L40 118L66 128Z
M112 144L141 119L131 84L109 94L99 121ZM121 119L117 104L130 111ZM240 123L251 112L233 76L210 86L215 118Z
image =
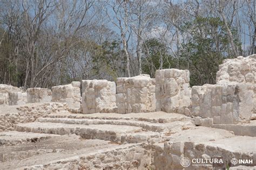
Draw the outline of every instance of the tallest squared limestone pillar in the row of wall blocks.
M165 69L156 71L156 110L190 114L191 88L188 70Z

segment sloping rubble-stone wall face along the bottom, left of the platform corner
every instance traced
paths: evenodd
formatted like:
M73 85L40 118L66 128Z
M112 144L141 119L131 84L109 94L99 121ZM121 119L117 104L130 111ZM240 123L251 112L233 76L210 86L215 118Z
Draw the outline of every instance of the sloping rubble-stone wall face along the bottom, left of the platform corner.
M150 166L150 152L142 144L105 148L98 152L52 161L51 164L25 166L22 169L145 169Z

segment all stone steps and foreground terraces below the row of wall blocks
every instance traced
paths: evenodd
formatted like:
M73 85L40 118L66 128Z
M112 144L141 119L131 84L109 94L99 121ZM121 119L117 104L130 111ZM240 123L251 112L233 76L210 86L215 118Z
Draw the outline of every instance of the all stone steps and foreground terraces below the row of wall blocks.
M253 160L242 169L256 166L256 137L196 126L175 113L55 113L14 130L0 133L0 169L183 169L181 157L214 155Z

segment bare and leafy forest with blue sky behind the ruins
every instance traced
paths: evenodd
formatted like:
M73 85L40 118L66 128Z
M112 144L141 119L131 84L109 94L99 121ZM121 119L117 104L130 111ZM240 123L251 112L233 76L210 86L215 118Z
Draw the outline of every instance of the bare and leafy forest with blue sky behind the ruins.
M0 0L0 83L51 87L74 80L190 70L215 84L226 58L256 52L255 1Z

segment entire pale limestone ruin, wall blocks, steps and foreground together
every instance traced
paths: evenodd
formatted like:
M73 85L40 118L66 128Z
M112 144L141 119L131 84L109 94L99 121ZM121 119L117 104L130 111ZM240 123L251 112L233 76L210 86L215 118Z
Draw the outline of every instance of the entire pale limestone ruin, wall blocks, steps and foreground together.
M185 169L256 169L256 55L224 60L216 84L189 82L188 70L165 69L51 89L0 84L0 169L184 169L185 157Z

